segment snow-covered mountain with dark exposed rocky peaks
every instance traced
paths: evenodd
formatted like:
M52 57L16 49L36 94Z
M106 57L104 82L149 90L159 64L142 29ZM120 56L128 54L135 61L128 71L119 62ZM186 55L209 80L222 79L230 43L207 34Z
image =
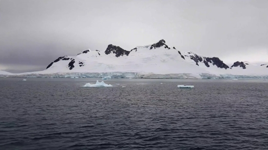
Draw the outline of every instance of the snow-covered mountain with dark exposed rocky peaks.
M38 74L39 77L40 74L61 74L60 77L62 77L64 74L66 77L66 74L70 73L86 77L100 77L108 74L118 77L118 74L122 76L127 73L141 78L268 76L268 65L258 66L249 62L235 62L229 67L218 57L205 57L192 51L183 52L168 46L162 39L152 45L138 46L132 50L124 50L112 44L108 45L105 51L83 50L75 56L58 57L43 71L17 75L34 74L37 76Z

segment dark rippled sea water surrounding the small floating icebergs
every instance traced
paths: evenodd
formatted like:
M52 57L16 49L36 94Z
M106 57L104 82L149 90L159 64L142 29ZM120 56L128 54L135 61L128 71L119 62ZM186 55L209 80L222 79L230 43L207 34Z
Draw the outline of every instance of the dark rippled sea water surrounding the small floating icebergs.
M268 81L22 79L0 78L0 150L268 150Z

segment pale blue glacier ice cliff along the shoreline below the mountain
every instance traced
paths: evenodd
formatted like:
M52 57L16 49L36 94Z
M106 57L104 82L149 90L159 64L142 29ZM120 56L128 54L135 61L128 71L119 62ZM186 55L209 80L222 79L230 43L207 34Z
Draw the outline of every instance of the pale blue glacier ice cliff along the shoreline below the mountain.
M139 78L139 79L268 79L268 75L233 75L233 74L211 74L211 73L179 73L179 74L152 74L140 72L69 72L69 73L49 73L49 74L18 74L18 75L0 75L0 77L18 77L18 78Z

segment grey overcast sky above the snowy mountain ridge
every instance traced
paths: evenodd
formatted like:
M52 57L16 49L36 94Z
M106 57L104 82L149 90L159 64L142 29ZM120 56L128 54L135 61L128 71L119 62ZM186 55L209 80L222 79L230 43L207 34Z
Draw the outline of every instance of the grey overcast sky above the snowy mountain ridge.
M181 51L268 62L268 0L0 0L0 69L160 39Z

